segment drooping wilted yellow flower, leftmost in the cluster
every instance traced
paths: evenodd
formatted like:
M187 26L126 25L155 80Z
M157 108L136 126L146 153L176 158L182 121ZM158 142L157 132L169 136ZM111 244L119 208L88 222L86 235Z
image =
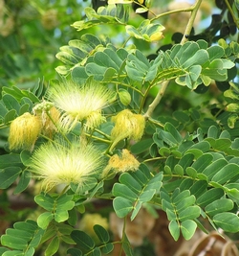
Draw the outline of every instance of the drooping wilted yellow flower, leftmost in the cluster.
M24 113L11 122L9 144L10 150L33 151L34 143L41 131L42 123L39 117Z

